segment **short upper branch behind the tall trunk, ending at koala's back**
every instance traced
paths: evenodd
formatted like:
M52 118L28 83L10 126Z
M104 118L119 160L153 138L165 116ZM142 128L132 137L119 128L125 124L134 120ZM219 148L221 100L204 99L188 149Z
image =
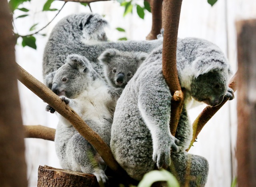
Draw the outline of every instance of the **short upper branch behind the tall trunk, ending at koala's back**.
M162 4L163 0L151 0L150 8L152 13L152 28L146 40L154 40L160 34L162 28Z

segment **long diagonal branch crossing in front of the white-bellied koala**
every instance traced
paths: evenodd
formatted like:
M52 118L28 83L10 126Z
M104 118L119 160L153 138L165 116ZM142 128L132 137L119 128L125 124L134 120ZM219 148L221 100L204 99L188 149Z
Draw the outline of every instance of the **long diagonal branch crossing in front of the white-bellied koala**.
M38 95L43 101L46 101L51 105L60 115L65 117L74 128L91 144L94 146L96 151L100 154L106 164L115 171L118 175L124 177L126 181L133 181L127 175L127 173L118 165L110 148L102 140L102 138L95 133L77 113L69 106L64 103L58 95L54 94L49 88L47 88L40 81L36 80L22 67L19 67L19 80L34 94Z

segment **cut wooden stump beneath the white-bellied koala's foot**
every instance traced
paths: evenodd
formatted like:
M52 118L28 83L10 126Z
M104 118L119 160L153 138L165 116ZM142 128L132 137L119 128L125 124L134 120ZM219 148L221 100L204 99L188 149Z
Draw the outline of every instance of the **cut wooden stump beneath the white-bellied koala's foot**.
M118 187L118 181L108 177L105 187ZM38 187L100 187L95 175L58 169L47 165L38 167Z

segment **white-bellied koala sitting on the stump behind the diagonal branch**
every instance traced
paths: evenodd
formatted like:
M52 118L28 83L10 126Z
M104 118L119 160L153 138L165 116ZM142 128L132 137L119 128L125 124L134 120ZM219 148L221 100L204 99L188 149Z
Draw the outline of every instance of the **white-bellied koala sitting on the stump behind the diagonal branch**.
M121 88L106 84L83 56L67 56L66 63L55 73L52 91L70 105L76 113L110 146L110 132L116 101ZM48 110L50 110L48 105ZM64 117L58 114L55 147L64 169L92 173L99 183L108 179L98 159L99 155Z

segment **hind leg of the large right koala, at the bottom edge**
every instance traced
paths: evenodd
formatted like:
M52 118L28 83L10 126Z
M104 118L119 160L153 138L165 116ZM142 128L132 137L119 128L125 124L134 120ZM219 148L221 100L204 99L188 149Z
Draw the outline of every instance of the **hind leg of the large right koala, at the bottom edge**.
M170 171L180 182L180 186L204 187L207 181L209 164L201 156L184 153L172 153Z

